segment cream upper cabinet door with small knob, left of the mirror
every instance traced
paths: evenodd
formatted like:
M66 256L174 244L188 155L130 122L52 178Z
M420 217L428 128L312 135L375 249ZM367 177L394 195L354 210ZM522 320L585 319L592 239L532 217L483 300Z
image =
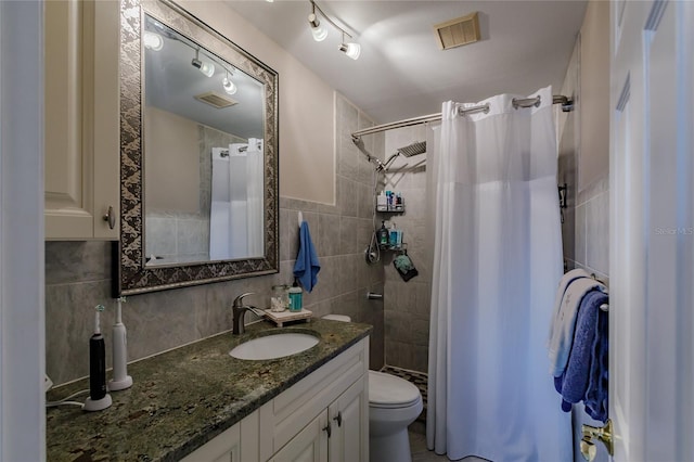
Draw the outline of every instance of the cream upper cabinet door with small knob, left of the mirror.
M118 11L112 0L44 3L48 240L119 235Z

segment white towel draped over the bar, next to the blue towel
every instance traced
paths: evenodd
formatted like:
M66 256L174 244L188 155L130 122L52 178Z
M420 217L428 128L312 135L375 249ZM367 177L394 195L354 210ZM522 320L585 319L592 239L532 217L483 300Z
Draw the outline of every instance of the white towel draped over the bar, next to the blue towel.
M564 292L558 312L554 318L554 328L552 329L549 347L550 374L555 377L562 375L568 362L568 355L574 343L578 307L583 296L594 288L607 292L607 287L604 284L592 278L578 278L570 282L566 292Z

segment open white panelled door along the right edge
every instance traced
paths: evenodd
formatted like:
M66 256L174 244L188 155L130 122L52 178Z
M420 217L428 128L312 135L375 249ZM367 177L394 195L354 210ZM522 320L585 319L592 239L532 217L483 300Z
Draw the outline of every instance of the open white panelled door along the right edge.
M691 461L694 3L611 13L614 460Z

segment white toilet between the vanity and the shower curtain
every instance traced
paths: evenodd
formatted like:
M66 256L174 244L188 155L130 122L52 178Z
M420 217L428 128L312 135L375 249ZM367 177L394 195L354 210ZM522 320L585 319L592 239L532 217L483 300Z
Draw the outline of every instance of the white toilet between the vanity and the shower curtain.
M323 319L349 322L344 315ZM420 389L410 382L369 371L369 458L378 462L410 462L408 425L423 409Z

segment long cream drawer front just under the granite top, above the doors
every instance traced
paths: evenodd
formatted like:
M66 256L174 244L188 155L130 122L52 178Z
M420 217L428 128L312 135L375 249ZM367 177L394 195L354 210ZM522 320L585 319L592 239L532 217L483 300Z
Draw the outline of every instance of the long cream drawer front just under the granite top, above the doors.
M261 420L272 435L272 452L278 451L298 431L308 425L331 402L369 370L369 338L360 341L334 360L318 369L261 409Z

